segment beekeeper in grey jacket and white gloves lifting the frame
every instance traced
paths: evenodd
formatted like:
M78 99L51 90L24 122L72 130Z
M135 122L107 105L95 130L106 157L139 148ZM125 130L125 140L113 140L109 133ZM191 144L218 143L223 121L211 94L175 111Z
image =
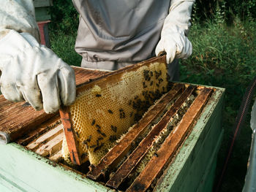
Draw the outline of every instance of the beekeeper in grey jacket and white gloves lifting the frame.
M195 0L73 0L80 13L75 50L81 66L115 70L167 53L171 79L187 58ZM75 101L75 74L52 50L39 44L32 0L0 0L0 86L10 101L56 112ZM173 63L172 63L173 62Z

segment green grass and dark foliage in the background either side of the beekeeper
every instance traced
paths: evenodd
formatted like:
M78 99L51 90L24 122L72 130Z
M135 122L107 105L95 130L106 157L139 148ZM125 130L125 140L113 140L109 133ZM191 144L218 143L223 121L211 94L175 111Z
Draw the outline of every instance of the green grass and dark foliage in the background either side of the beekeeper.
M53 20L56 22L50 26L51 46L67 64L79 66L81 57L74 50L78 15L74 13L70 1L66 1L54 1ZM67 9L65 14L64 9ZM232 134L242 97L256 74L255 14L256 0L198 0L192 14L189 39L193 53L187 60L181 61L180 80L226 88L223 112L225 136L219 153L217 175L222 168L227 141ZM62 15L61 18L58 15ZM243 188L251 134L248 115L234 146L222 191L241 191Z

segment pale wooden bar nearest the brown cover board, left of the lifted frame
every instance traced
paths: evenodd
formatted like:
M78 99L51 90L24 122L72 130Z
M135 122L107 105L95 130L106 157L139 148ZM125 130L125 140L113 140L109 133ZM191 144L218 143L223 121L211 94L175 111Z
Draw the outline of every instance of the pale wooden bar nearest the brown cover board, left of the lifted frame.
M59 125L56 128L48 131L46 134L42 134L41 137L29 143L29 145L26 145L26 147L28 147L30 150L36 150L40 145L45 144L46 142L53 139L53 137L56 137L61 133L63 133L63 126Z

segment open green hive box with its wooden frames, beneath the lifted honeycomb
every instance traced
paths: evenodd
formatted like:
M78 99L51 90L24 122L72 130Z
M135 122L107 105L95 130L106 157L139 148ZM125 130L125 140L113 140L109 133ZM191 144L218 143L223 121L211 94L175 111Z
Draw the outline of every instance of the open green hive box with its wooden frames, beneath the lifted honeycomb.
M96 71L83 73L83 83L98 93L105 84L99 78L90 80L95 77L84 75L90 73ZM99 76L102 80L102 75ZM76 80L79 82L79 78ZM121 75L108 82L116 80L121 80ZM89 161L81 166L64 164L58 115L39 123L26 136L20 135L18 144L0 145L4 154L0 161L0 191L211 191L223 134L224 89L182 82L168 86L170 91L151 105L97 166L89 166ZM78 94L85 90L80 88ZM61 118L62 123L70 121L69 117ZM67 131L75 139L78 137L72 126Z

